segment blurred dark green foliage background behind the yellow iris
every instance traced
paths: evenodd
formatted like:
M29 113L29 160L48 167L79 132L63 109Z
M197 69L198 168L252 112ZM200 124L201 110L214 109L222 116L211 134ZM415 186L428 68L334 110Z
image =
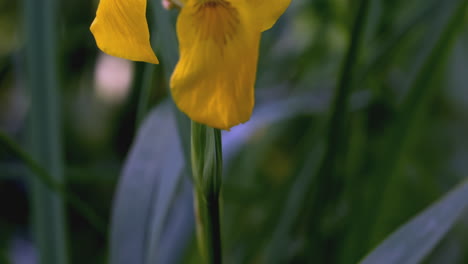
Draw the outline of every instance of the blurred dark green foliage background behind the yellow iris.
M466 179L465 1L292 1L223 132L225 263L357 263ZM0 0L0 263L201 263L178 11L149 0L149 65L97 49L97 4ZM415 262L468 263L467 195Z

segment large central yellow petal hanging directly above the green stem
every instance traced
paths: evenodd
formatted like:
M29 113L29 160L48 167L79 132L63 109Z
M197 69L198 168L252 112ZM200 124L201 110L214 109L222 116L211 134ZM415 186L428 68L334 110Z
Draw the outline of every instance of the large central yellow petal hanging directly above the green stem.
M189 1L177 21L180 59L171 78L192 120L229 129L250 119L260 32L226 0Z

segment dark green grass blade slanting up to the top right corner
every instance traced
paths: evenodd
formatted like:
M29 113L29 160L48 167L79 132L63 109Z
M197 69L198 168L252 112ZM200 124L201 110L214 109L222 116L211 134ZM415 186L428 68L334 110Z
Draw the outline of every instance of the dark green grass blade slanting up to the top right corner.
M371 243L378 242L388 231L387 221L391 219L391 215L389 215L391 210L388 208L391 208L392 192L397 188L393 186L393 183L402 160L402 153L412 136L411 132L416 120L424 112L425 107L428 106L428 100L434 94L436 88L434 83L440 77L441 70L458 35L460 25L463 25L467 6L468 2L466 0L459 0L454 4L453 15L446 24L432 52L420 68L411 85L411 90L403 102L394 126L390 129L389 145L385 148L385 155L380 161L380 166L377 166L379 170L376 175L381 175L378 186L381 187L378 188L380 191L376 192L378 195L377 201L380 203L376 208L381 209L378 211L375 226L372 229Z

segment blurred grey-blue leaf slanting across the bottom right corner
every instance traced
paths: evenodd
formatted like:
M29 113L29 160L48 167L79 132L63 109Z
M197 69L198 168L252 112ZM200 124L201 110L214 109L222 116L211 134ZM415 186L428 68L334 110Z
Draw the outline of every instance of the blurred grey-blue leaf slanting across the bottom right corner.
M467 209L468 181L400 227L361 263L412 264L423 261Z

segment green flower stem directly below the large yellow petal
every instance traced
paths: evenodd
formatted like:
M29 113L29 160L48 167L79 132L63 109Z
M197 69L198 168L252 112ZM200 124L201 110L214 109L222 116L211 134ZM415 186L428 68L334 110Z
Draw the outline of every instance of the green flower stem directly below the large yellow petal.
M197 238L204 263L222 263L219 193L222 181L221 131L192 121L192 176Z

